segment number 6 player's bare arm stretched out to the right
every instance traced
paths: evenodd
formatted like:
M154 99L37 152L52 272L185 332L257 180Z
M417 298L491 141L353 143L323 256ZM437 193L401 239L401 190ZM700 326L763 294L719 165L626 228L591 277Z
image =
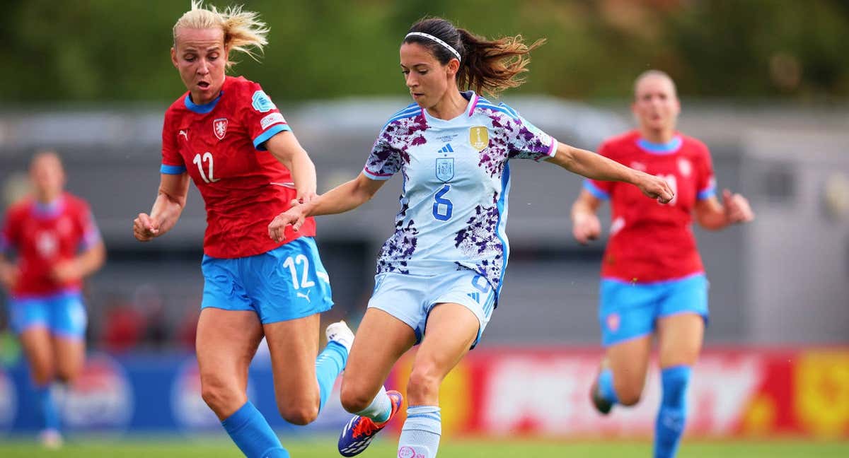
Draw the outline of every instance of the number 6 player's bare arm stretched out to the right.
M661 204L666 204L675 197L672 187L662 178L633 170L586 149L558 142L554 157L546 160L593 180L631 183L639 187L647 197L656 198Z

